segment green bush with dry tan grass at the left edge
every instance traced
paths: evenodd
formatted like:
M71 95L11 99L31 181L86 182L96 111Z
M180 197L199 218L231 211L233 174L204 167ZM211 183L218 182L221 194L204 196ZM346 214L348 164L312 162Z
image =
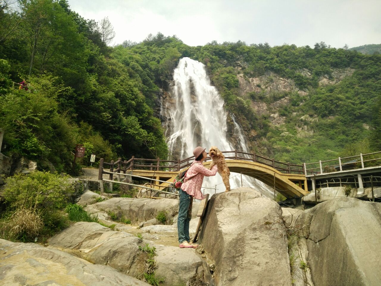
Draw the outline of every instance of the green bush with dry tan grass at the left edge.
M2 236L28 241L66 227L61 210L67 203L65 194L70 192L67 179L39 171L6 178Z

